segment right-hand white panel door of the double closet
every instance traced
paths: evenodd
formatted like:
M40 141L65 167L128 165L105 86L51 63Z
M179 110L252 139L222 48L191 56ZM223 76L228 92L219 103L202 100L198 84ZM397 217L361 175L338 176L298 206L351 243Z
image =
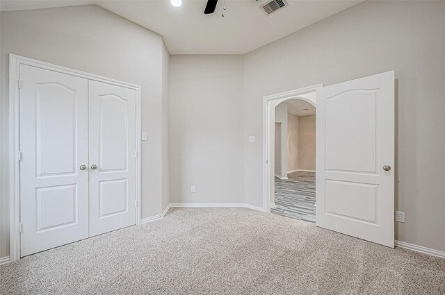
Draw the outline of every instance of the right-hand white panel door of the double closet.
M136 90L89 81L90 236L136 224Z

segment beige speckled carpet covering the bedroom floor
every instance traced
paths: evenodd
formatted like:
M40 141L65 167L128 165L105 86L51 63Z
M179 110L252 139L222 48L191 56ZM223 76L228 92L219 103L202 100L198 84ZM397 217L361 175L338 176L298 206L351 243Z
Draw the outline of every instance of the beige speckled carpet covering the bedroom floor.
M441 258L245 208L172 208L0 275L1 294L445 294Z

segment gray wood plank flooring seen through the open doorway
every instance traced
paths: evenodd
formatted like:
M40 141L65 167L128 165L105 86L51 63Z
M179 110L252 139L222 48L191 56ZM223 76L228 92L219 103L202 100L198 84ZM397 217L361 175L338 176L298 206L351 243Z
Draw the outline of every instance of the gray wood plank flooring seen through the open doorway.
M315 222L315 173L297 171L287 180L275 177L275 205L270 212Z

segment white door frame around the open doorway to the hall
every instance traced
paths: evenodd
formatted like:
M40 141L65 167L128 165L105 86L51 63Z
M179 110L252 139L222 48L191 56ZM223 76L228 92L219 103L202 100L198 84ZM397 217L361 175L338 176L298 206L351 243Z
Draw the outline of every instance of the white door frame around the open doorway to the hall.
M280 92L277 94L271 94L268 96L263 96L263 210L265 212L270 211L270 187L271 187L271 177L270 174L270 159L273 158L273 153L275 146L270 144L270 121L272 118L272 110L275 110L275 106L282 101L288 99L301 99L311 103L316 106L316 101L312 99L307 99L305 97L299 97L303 94L308 94L310 92L315 92L318 87L323 87L322 84L316 84L312 86L298 88L296 90L290 90L286 92ZM275 113L274 116L275 117Z

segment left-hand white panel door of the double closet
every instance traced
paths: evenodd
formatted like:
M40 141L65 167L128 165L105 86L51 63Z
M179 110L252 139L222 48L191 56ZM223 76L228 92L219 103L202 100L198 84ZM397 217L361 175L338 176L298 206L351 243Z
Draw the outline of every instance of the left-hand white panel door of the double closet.
M20 80L25 256L88 237L88 80L28 65Z

